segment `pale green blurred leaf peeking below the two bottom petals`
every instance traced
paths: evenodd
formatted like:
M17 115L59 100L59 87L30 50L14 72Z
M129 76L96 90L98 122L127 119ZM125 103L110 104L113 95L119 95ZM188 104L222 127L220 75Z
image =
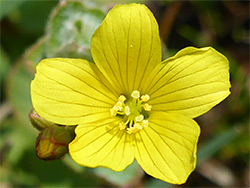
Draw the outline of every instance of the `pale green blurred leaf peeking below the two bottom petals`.
M136 160L121 172L115 172L109 168L103 167L95 168L94 171L98 176L116 186L129 185L134 178L139 179L142 176L142 173L140 174L141 168L137 164Z

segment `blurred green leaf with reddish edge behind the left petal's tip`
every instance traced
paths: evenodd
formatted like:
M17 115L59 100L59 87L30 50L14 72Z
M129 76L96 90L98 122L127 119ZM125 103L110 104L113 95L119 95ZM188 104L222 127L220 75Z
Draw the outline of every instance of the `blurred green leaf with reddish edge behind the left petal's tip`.
M27 50L25 56L10 71L6 84L7 97L15 115L27 126L30 126L28 114L32 108L30 82L34 77L36 64L45 56L44 42L45 38L42 38Z

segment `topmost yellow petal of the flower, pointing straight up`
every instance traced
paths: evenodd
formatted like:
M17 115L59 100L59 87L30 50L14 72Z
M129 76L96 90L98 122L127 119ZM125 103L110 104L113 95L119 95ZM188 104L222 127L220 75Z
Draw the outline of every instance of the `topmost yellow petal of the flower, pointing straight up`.
M100 71L120 93L144 87L145 78L161 61L158 24L141 4L116 5L91 39Z

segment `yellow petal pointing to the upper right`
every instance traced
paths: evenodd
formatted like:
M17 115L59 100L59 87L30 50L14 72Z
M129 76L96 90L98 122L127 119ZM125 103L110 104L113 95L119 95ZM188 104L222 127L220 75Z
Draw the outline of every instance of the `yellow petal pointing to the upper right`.
M148 78L152 110L195 118L229 94L229 63L211 47L187 47L165 60Z

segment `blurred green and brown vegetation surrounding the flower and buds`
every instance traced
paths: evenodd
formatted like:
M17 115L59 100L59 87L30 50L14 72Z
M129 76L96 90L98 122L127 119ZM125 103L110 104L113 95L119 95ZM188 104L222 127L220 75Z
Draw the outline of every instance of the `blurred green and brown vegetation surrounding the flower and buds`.
M132 1L120 1L132 2ZM135 1L134 1L135 2ZM249 1L136 1L160 25L163 58L186 46L213 46L230 61L232 94L197 118L198 166L182 187L249 185ZM119 1L0 0L0 187L168 187L136 163L123 172L36 157L30 81L45 57L91 61L90 38ZM178 187L178 186L174 186Z

